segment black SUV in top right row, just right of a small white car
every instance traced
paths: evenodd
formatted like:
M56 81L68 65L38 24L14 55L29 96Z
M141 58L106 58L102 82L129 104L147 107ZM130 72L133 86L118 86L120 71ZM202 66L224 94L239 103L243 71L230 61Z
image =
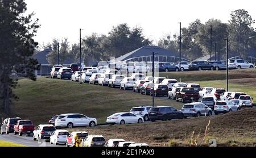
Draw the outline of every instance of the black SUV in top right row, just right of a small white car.
M214 70L214 65L208 61L192 61L188 64L189 70Z

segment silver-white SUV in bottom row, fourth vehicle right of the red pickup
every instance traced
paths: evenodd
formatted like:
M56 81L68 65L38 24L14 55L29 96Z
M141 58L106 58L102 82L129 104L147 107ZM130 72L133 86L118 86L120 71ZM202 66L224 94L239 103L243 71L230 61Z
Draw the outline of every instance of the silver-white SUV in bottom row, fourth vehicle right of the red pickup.
M102 135L88 135L82 139L82 147L104 147L106 139Z

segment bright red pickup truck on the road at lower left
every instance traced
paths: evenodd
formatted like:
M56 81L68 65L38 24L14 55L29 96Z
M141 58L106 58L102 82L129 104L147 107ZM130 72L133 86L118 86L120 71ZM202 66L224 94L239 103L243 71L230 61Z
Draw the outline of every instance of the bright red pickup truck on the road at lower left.
M30 135L35 130L35 126L31 120L22 119L18 120L18 122L14 125L14 134L19 134L22 136L23 134Z

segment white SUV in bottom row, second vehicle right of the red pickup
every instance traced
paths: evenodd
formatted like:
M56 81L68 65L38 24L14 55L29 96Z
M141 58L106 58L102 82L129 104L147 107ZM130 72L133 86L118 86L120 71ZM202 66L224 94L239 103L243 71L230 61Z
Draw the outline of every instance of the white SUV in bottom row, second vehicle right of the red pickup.
M67 130L56 130L50 136L49 143L55 144L55 145L58 145L58 144L66 145L68 135L69 135L69 132Z

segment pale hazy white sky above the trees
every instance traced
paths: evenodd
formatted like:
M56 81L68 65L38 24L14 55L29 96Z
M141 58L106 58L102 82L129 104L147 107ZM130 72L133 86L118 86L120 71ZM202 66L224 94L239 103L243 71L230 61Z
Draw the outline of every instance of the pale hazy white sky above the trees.
M245 9L256 19L252 0L25 0L28 12L34 11L42 25L36 36L40 44L53 38L67 37L71 43L82 36L108 34L113 26L127 23L142 27L147 38L158 41L165 34L177 34L179 24L187 27L195 19L205 23L208 19L228 22L231 11Z

